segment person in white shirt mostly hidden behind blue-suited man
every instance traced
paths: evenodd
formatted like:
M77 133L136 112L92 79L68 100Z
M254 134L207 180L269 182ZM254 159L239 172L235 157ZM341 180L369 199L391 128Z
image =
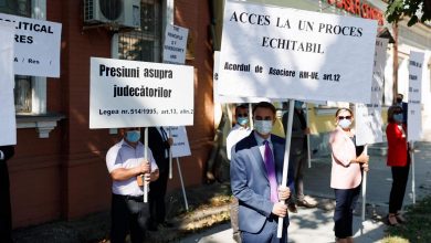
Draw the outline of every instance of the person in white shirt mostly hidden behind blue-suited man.
M236 106L235 122L236 124L229 131L225 141L227 155L229 160L231 160L231 150L234 147L234 145L241 139L243 139L244 137L249 136L251 133L251 129L249 127L249 108L246 105ZM238 228L238 208L239 208L238 199L233 197L233 202L231 204L231 225L232 225L233 240L235 240L236 242L241 242L240 230Z

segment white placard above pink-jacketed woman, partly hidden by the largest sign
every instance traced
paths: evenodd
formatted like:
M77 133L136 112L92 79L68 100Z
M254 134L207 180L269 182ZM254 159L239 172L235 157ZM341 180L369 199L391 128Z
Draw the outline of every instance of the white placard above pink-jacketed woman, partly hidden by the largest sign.
M377 38L375 65L372 71L371 102L356 104L356 145L371 145L383 141L383 120L381 119L381 101L388 39Z

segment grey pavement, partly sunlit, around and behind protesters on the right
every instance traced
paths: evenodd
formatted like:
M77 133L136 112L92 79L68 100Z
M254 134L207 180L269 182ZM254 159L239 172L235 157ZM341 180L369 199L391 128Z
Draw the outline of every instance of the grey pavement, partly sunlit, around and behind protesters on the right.
M431 194L431 142L417 142L414 154L414 192L417 200ZM367 176L366 221L362 223L361 199L354 218L354 239L356 243L378 242L385 237L386 225L382 219L388 213L389 192L392 183L391 170L386 166L386 155L370 154L370 171ZM307 196L318 202L316 209L298 208L291 213L288 242L334 242L333 214L334 191L329 188L330 158L314 158L312 168L304 171L304 187ZM406 190L403 205L413 203L412 173ZM234 243L230 223L182 239L183 243Z

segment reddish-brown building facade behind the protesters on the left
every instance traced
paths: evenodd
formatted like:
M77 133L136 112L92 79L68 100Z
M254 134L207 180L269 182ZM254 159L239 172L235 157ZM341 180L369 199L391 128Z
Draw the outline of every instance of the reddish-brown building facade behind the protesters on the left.
M180 162L186 187L202 182L214 135L208 2L138 0L140 29L134 30L86 23L87 2L0 1L2 13L62 23L60 78L15 76L18 138L9 161L14 228L109 209L105 155L118 134L88 129L90 57L160 62L168 23L189 29L186 64L195 70L197 116L187 127L192 156ZM169 190L180 187L177 170L168 183Z

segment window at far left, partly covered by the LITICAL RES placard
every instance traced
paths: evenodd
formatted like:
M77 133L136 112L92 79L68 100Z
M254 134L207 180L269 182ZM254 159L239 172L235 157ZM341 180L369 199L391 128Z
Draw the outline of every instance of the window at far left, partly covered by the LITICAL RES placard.
M0 0L0 12L31 17L32 0ZM17 113L31 113L32 77L15 75L14 103Z

